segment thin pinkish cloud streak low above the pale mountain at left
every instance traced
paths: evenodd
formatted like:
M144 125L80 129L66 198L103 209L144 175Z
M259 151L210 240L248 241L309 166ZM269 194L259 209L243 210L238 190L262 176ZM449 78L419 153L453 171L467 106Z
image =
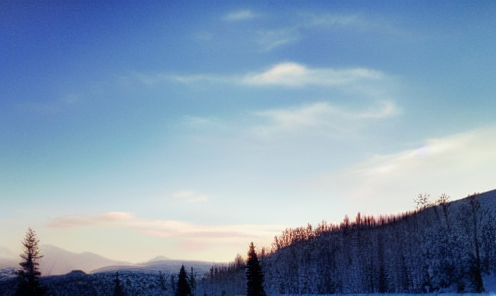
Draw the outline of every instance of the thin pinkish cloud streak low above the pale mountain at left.
M133 214L126 212L108 212L82 216L62 216L51 219L48 222L48 226L54 228L72 228L129 221L133 218Z

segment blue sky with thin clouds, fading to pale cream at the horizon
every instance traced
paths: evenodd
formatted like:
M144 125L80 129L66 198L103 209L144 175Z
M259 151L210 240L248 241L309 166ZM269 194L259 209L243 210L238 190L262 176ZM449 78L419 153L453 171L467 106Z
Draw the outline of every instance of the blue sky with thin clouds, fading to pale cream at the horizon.
M495 189L495 28L489 0L0 1L0 250L227 262Z

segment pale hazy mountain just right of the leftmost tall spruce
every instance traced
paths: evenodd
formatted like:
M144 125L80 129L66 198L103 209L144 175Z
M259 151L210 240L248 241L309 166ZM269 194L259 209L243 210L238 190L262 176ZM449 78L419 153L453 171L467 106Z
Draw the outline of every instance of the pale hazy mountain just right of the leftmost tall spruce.
M40 259L40 269L44 276L66 274L72 270L91 272L105 266L132 265L88 252L76 254L51 245L43 245L41 252L44 257Z

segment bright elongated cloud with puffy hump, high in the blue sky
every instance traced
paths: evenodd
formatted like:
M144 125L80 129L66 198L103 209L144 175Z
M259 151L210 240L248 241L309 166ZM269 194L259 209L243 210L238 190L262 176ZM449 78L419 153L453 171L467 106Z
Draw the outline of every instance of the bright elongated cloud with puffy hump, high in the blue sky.
M363 80L379 80L384 74L366 68L308 68L298 63L280 63L261 73L250 73L242 82L248 85L342 86Z

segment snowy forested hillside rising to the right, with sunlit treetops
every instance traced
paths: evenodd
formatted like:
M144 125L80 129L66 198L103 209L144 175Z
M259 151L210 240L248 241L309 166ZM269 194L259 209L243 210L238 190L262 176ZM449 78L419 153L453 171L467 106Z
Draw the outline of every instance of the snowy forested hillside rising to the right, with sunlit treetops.
M496 274L496 191L392 216L286 229L259 251L267 294L483 292ZM236 260L239 261L239 258ZM238 294L240 264L214 266L208 295Z

